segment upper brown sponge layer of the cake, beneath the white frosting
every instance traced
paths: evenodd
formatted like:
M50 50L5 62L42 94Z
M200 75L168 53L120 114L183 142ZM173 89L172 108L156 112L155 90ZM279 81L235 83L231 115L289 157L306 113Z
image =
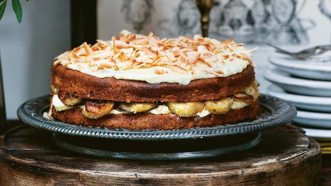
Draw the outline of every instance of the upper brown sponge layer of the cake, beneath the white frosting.
M198 79L188 85L154 83L116 78L97 78L58 64L51 67L51 83L58 89L87 99L119 102L191 102L227 97L249 86L254 68L220 78Z

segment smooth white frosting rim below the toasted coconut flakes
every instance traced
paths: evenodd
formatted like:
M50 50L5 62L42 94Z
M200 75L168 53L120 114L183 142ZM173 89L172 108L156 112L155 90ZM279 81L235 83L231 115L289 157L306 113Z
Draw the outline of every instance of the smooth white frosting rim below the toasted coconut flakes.
M226 60L224 63L220 60L216 60L213 63L213 67L204 68L208 71L223 72L222 77L228 77L241 73L248 65L249 61L247 60L233 58L232 61ZM192 70L180 72L174 72L170 68L159 66L127 70L105 68L99 69L95 72L91 70L88 63L69 64L66 67L98 78L114 77L116 79L139 80L148 83L169 82L187 85L192 80L218 77L217 75L206 73L199 67L192 67ZM162 74L158 74L157 72L162 72Z

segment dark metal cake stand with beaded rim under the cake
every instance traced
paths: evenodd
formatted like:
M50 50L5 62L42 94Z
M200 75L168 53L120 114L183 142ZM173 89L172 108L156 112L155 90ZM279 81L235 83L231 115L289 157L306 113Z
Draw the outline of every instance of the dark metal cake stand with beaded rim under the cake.
M261 95L261 114L256 120L233 125L180 130L107 129L72 125L44 118L49 96L22 104L18 117L27 125L53 132L52 141L69 151L90 156L134 159L174 160L215 157L246 150L261 140L261 131L293 120L296 109L277 98Z

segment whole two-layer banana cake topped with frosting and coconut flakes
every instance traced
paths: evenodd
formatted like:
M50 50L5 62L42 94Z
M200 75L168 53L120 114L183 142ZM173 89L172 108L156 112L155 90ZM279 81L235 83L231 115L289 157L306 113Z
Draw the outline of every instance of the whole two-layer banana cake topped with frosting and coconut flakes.
M252 51L233 40L160 39L122 30L109 41L83 43L56 57L47 115L128 130L254 119L260 108Z

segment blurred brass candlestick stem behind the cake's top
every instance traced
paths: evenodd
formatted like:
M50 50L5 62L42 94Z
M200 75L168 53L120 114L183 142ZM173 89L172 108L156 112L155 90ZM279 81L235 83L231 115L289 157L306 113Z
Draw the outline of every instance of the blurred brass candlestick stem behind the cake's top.
M209 13L211 8L213 7L214 0L196 0L196 1L201 14L202 36L208 37Z

